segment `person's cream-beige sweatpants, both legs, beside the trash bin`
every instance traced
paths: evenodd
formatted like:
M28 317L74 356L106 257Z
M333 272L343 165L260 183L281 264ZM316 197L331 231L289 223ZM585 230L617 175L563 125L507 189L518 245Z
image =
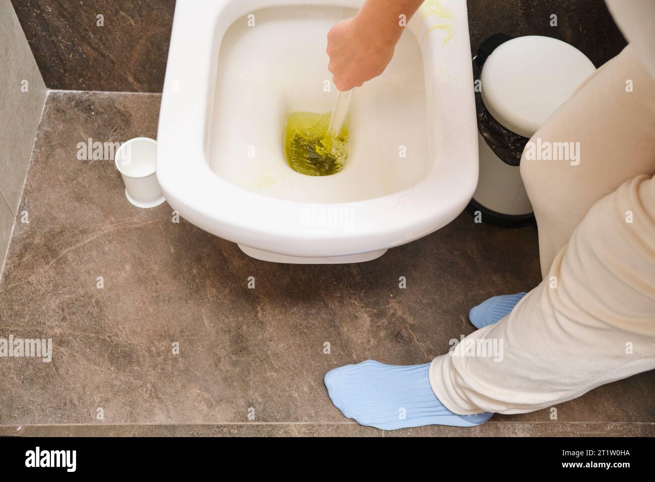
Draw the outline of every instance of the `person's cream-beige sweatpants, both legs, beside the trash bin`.
M468 350L432 361L432 388L458 414L531 412L655 369L655 81L631 46L538 138L580 142L579 164L524 151L544 279Z

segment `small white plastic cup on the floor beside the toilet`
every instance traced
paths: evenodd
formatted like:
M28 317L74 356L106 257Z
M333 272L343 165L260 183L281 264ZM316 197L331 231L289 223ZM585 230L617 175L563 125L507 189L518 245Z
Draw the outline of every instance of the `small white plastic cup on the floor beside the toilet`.
M124 142L114 155L125 183L125 197L136 207L155 207L166 201L155 175L156 159L157 141L147 137Z

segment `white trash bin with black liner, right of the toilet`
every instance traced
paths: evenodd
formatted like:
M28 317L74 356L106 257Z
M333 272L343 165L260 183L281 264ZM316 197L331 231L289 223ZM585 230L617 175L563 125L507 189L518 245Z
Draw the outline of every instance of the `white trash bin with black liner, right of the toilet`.
M478 134L479 180L469 210L481 211L489 224L522 226L533 219L519 171L522 148L595 67L580 50L563 41L502 34L481 45L476 64L481 69L477 95L514 146L512 154L501 159L493 150L499 146ZM498 143L502 137L497 135Z

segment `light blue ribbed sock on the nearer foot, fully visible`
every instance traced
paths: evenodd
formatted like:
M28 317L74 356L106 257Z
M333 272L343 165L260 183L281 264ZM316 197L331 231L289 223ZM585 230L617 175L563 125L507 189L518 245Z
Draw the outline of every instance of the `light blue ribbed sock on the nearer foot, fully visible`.
M327 394L332 403L358 424L382 430L450 425L472 427L493 415L457 415L441 405L428 380L430 363L407 367L367 360L326 373Z

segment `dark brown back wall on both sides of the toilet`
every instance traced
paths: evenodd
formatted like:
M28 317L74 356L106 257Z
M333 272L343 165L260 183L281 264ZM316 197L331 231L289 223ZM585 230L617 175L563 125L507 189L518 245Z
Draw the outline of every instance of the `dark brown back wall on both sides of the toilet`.
M175 0L12 3L50 89L161 92ZM625 45L603 0L468 0L468 10L474 50L497 32L548 35L600 66Z

